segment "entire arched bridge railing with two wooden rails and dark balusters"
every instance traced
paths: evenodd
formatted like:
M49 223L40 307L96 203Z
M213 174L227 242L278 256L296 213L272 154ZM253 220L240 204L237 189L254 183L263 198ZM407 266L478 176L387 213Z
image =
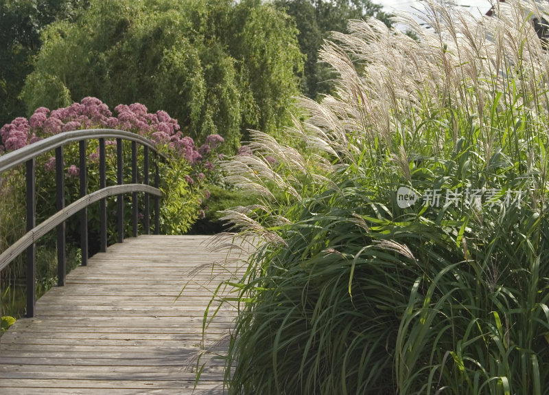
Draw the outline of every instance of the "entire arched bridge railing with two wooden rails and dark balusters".
M86 142L89 139L99 140L99 173L100 189L88 193L88 179L86 166ZM116 139L117 142L117 185L106 186L106 151L105 139ZM122 140L131 142L132 157L132 183L124 184ZM80 166L80 199L65 207L65 171L63 163L63 146L71 142L79 144ZM137 144L143 146L143 183L137 183ZM36 192L35 192L35 166L36 157L55 150L56 157L56 214L36 225ZM150 184L149 151L154 153L154 185ZM26 205L27 205L27 233L14 242L8 249L0 254L0 271L23 251L26 253L26 287L27 287L27 317L34 317L34 304L36 299L36 241L47 234L54 227L57 228L57 261L58 261L58 286L65 285L67 271L65 256L65 221L80 212L80 247L82 249L82 265L88 260L88 216L86 207L100 202L100 252L107 250L107 215L106 198L117 195L117 233L118 242L124 241L124 197L123 194L132 194L132 234L137 237L139 213L137 210L137 194L145 192L143 229L145 234L150 232L150 196L154 196L154 233L159 234L159 198L162 196L159 190L159 159L163 155L156 150L150 140L135 133L119 131L115 129L88 129L60 133L58 135L40 140L19 150L0 157L0 175L17 166L26 166ZM1 202L0 202L1 204ZM0 289L0 297L1 297ZM1 300L0 300L1 304Z

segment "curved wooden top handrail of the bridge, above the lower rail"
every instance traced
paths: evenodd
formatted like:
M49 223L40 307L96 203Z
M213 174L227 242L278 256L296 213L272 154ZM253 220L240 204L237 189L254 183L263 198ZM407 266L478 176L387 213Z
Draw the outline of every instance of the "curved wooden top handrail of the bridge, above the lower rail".
M119 131L117 129L84 129L82 131L63 132L58 135L47 137L47 139L40 140L39 142L29 144L19 150L14 150L11 153L2 155L0 157L0 173L10 170L16 166L19 166L29 159L36 158L38 155L45 154L55 148L64 146L70 142L78 142L84 139L125 139L132 142L137 142L143 146L148 146L156 151L156 146L145 137L136 135L132 132ZM165 155L159 153L159 155L165 158Z

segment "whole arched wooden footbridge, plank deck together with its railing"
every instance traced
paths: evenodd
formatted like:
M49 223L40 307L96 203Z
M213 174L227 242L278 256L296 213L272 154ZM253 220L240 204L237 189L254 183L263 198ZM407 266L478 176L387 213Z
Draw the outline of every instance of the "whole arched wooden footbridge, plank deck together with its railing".
M94 192L88 190L86 170L90 139L98 139L99 150L99 189ZM115 179L107 179L106 139L116 139ZM130 168L123 163L123 140L131 142ZM75 142L80 199L65 206L63 147ZM36 225L36 157L52 150L57 211ZM138 157L143 159L141 168ZM238 260L231 256L226 261L226 252L209 251L205 236L159 235L159 161L165 159L148 139L110 129L60 133L0 157L0 174L25 166L27 205L27 233L0 251L0 271L25 253L27 282L27 318L19 319L0 340L0 394L224 392L224 363L211 355L223 354L219 339L231 328L235 311L211 304L211 298L223 280L237 273ZM109 198L117 203L118 242L107 249ZM87 208L96 202L100 253L89 258ZM126 240L125 204L131 204L133 236ZM75 214L80 215L82 266L66 275L65 221ZM36 240L54 229L58 287L36 302ZM138 237L138 229L145 235ZM216 308L217 317L203 336L204 319ZM205 348L200 367L206 363L196 385L195 361Z

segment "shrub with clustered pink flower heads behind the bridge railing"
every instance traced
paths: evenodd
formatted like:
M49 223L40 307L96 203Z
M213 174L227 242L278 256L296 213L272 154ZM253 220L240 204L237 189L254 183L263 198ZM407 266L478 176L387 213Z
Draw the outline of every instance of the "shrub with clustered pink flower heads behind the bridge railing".
M191 137L183 136L177 120L170 117L165 111L149 113L146 106L139 103L130 105L119 104L115 107L113 114L106 104L97 98L84 98L80 103L73 103L70 106L49 110L40 107L34 111L27 120L25 117L18 117L10 124L5 124L0 128L0 155L8 153L28 144L39 141L58 133L75 131L86 128L115 128L124 131L132 131L156 144L167 157L167 163L161 166L161 174L166 177L163 179L161 189L165 193L163 207L161 207L161 226L165 233L182 233L192 225L199 214L200 192L205 182L215 179L215 161L218 154L215 152L223 144L224 140L220 135L209 135L200 148L196 148L194 140ZM107 155L107 178L114 183L116 180L116 141L105 142ZM99 159L99 150L97 141L90 140L88 144L87 159L89 159L89 185L90 188L97 188ZM128 163L129 150L124 150L124 163ZM138 151L142 157L141 151ZM142 158L141 158L142 159ZM67 185L78 183L78 174L80 168L78 163L78 147L74 144L65 147L65 172ZM143 161L138 161L143 163ZM55 171L56 159L53 156L38 158L37 167L37 186L42 188L43 196L55 196L53 176L51 172ZM177 168L169 172L167 168ZM129 171L129 170L128 170ZM143 169L139 169L139 174L143 174ZM130 179L130 174L125 177ZM109 182L109 181L108 181ZM78 188L68 188L71 190L71 196L67 200L78 199ZM53 199L53 198L50 198ZM112 210L108 212L115 213L114 202ZM42 212L42 216L53 214L54 203L49 202L44 207L49 207ZM40 207L40 205L38 205ZM139 207L142 215L143 207ZM92 216L94 215L91 209ZM40 213L38 213L40 215ZM170 217L169 219L167 217ZM91 219L93 222L93 218ZM93 225L92 225L93 226ZM114 231L113 231L114 234Z

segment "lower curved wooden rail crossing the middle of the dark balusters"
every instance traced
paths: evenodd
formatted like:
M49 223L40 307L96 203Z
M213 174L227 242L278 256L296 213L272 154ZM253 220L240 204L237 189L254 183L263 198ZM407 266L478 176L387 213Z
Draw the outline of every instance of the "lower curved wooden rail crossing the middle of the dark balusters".
M49 232L51 229L54 229L54 227L56 227L63 221L66 221L71 215L76 214L84 207L88 207L92 203L100 201L101 199L104 199L108 196L115 196L117 194L130 192L147 192L148 194L153 194L155 196L162 196L162 191L158 188L143 184L113 185L103 188L102 190L92 192L91 194L88 194L78 199L74 203L71 203L60 212L57 212L56 214L47 218L46 221L34 227L34 229L27 232L19 240L14 242L14 244L12 244L8 249L3 251L3 253L0 254L0 270L8 266L8 264L12 262L12 260L19 256L20 253L25 251L27 247L36 242L40 237L47 234L47 232Z

